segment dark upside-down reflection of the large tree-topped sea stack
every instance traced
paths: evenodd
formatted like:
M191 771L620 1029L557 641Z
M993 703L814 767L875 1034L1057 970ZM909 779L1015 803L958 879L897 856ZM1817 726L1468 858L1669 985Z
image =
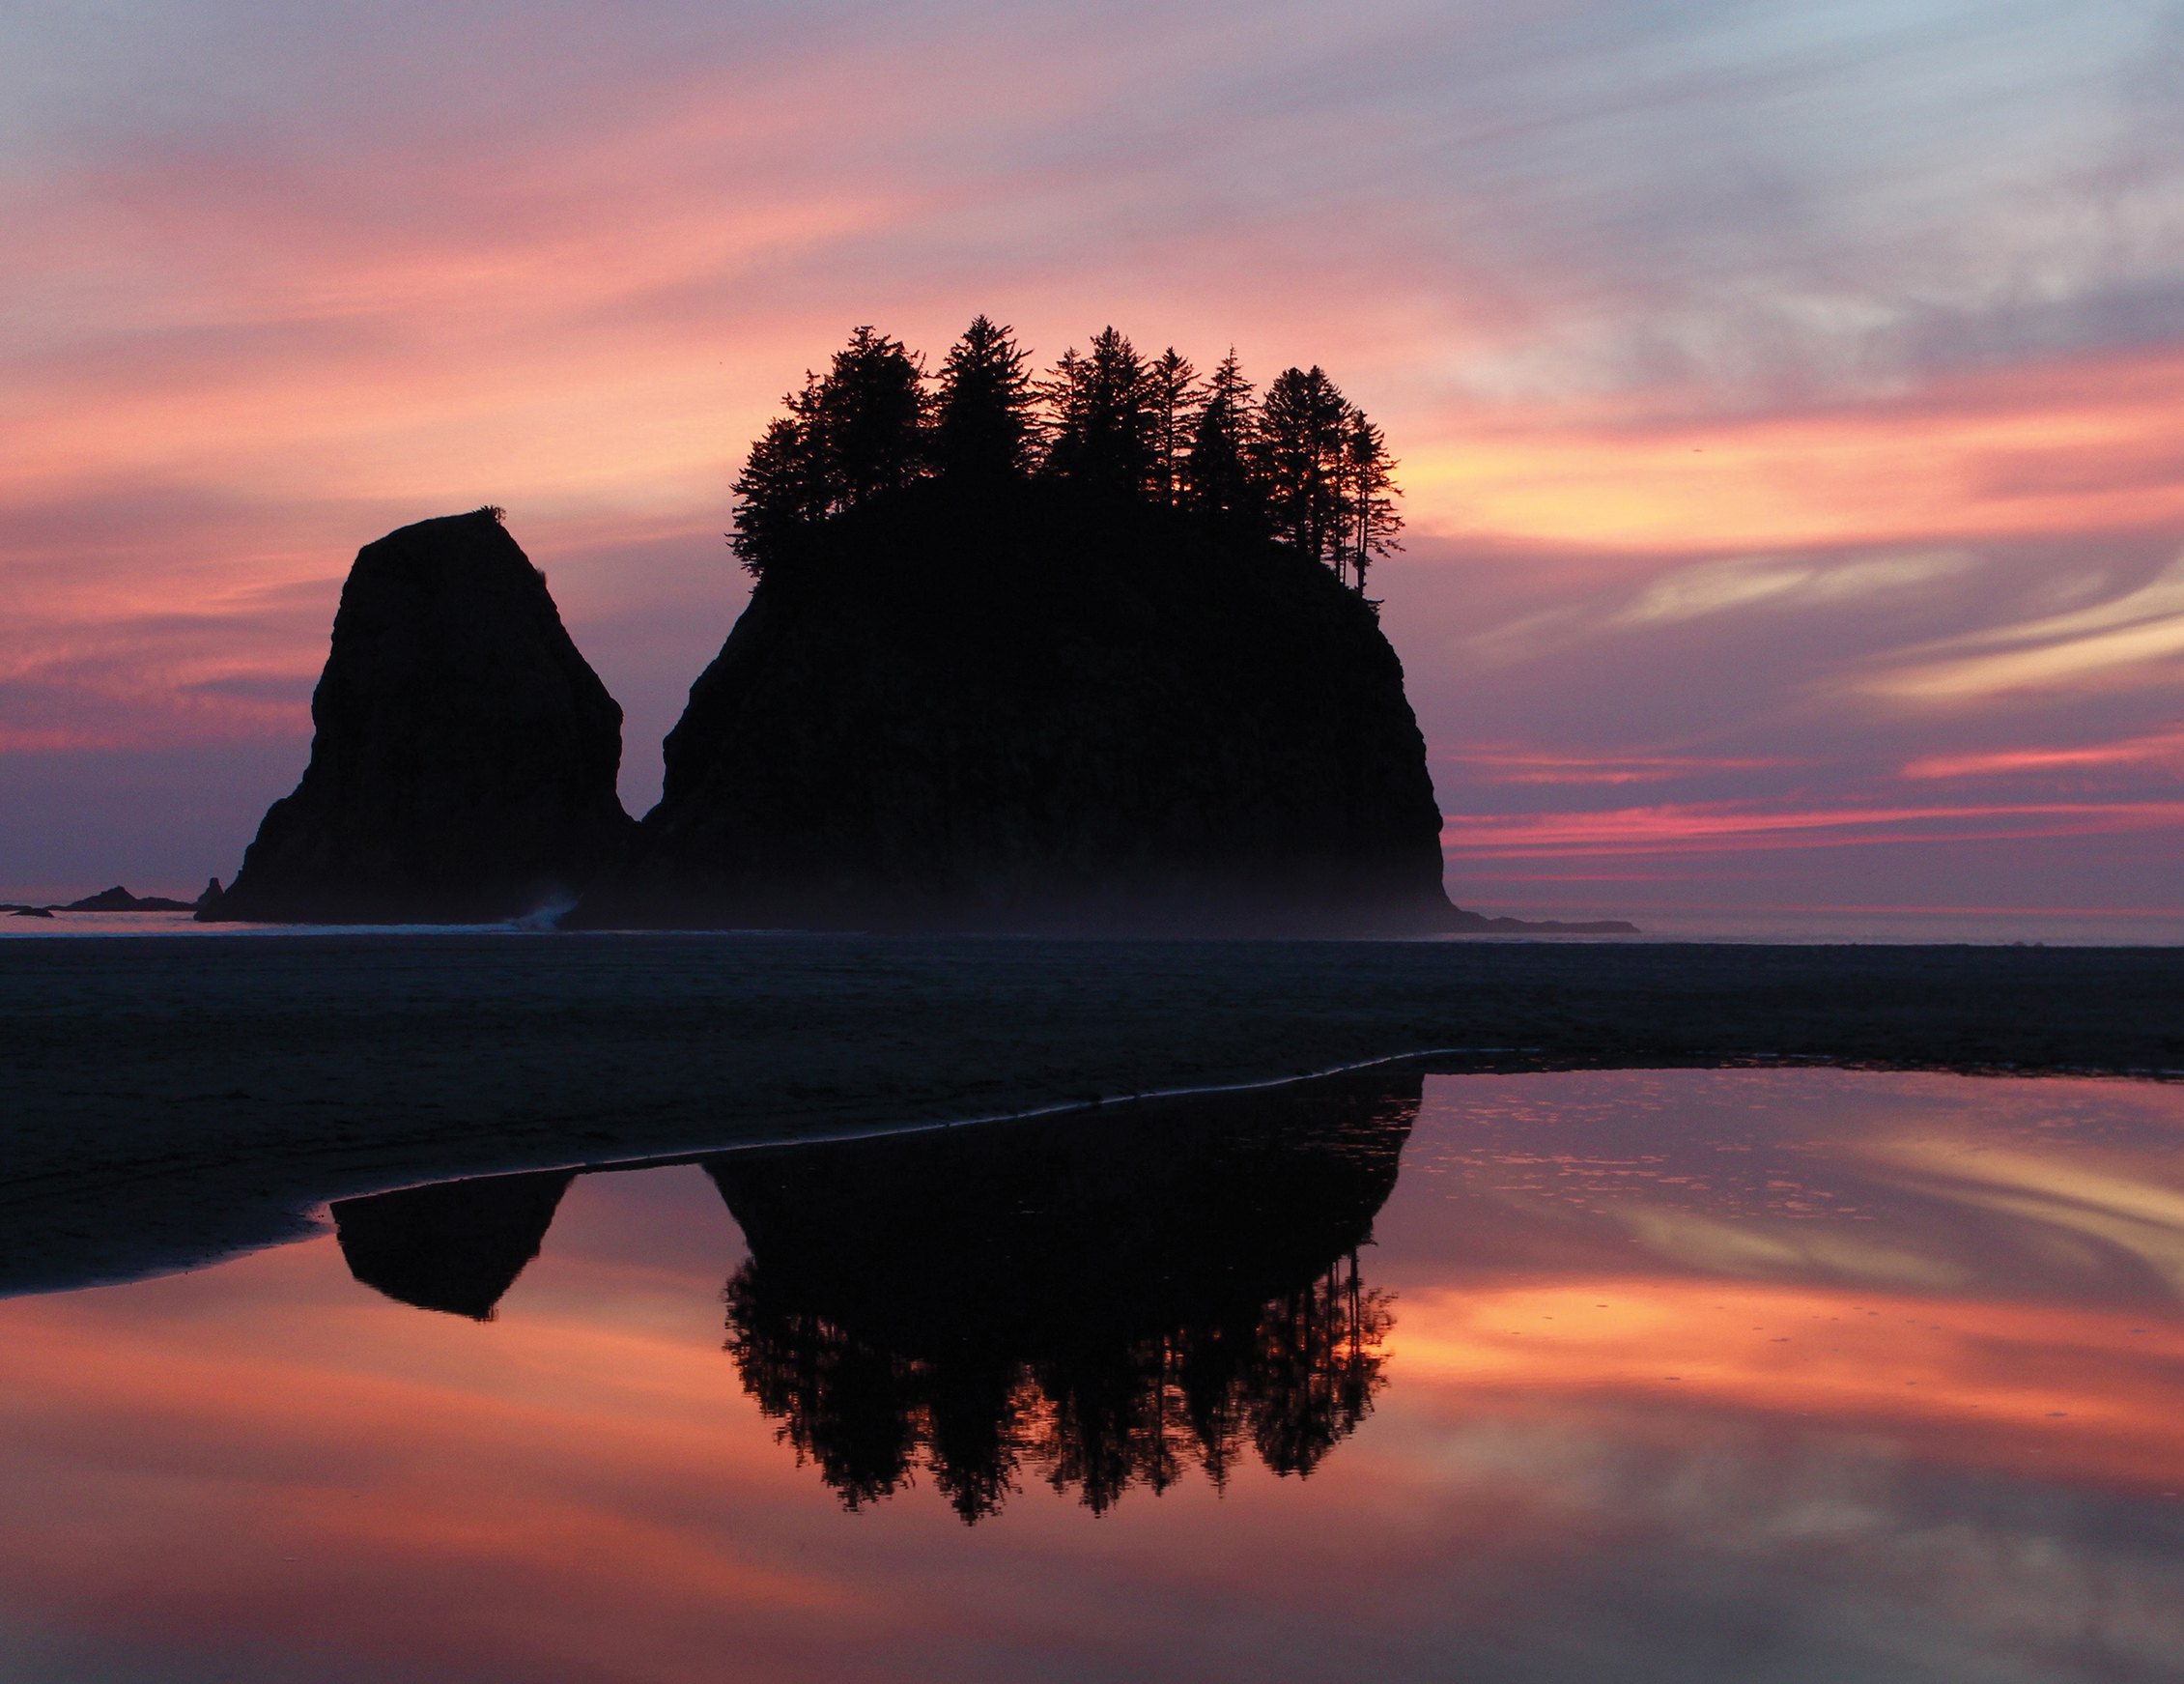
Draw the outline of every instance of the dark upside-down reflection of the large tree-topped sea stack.
M723 1158L745 1389L847 1507L1308 1474L1385 1385L1356 1254L1417 1077Z

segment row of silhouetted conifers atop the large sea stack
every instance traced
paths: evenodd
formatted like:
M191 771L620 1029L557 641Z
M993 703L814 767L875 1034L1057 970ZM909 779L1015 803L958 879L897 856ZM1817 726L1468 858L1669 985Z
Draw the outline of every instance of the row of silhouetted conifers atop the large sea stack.
M782 398L786 413L734 481L743 566L764 577L828 518L926 478L974 491L1046 481L1168 507L1271 537L1358 594L1400 548L1387 439L1319 367L1284 369L1260 398L1234 347L1201 380L1173 345L1147 360L1112 325L1044 378L1029 365L1013 330L985 315L930 376L902 341L852 332L823 376Z

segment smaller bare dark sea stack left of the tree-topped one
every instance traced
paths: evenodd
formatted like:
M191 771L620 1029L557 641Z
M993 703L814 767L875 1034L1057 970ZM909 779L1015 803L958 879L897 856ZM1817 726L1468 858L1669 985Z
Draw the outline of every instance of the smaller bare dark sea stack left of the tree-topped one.
M622 710L491 509L367 544L317 736L205 920L470 922L574 900L636 826Z

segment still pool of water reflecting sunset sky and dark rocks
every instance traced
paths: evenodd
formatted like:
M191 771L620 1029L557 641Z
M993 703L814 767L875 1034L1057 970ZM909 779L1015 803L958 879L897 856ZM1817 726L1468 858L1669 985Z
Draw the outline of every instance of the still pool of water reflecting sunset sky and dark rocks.
M0 1304L0 1675L2173 1680L2180 1145L1382 1072L345 1201Z

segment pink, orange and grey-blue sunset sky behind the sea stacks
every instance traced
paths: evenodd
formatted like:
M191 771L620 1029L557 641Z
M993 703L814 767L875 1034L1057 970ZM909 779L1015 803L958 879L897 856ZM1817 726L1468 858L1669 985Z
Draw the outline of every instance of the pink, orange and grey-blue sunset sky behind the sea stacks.
M356 548L627 710L874 323L1319 363L1459 904L2184 911L2184 7L0 0L0 896L232 876Z

